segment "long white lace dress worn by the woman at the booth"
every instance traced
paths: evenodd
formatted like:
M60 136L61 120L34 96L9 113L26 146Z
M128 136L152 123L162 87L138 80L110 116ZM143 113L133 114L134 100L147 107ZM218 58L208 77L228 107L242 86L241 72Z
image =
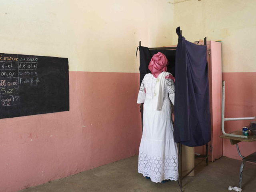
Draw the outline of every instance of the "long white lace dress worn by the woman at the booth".
M174 104L174 81L165 79L161 111L152 109L155 85L156 78L152 74L146 74L138 94L137 103L144 103L138 172L150 177L153 182L177 180L178 150L174 142L170 103L171 100Z

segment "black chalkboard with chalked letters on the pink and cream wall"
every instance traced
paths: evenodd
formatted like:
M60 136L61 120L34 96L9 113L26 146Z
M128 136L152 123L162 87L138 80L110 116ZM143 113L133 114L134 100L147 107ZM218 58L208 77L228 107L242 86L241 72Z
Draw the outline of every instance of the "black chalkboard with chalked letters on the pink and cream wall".
M0 118L69 111L68 58L0 53Z

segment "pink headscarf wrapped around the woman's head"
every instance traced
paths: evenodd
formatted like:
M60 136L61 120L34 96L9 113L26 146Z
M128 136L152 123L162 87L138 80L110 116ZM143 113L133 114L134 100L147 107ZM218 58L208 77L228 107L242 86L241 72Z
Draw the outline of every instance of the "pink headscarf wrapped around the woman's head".
M163 71L167 71L167 65L169 64L166 56L160 52L154 54L152 57L148 69L152 72L155 78L158 77Z

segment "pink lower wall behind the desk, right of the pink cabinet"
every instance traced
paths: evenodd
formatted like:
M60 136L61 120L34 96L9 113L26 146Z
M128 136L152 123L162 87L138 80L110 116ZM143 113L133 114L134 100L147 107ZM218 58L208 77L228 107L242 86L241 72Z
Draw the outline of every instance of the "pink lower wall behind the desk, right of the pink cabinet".
M222 79L225 80L225 117L256 116L256 72L222 73ZM227 121L225 131L230 133L249 123L250 120ZM256 151L256 142L240 142L238 146L243 156ZM227 139L223 139L223 156L242 160L236 146Z

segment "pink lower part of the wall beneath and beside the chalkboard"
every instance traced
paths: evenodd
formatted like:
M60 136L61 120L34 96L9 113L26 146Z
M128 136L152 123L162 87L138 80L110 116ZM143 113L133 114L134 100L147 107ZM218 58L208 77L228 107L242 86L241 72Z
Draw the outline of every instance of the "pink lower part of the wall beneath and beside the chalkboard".
M2 119L0 192L138 154L138 73L70 72L70 111Z

